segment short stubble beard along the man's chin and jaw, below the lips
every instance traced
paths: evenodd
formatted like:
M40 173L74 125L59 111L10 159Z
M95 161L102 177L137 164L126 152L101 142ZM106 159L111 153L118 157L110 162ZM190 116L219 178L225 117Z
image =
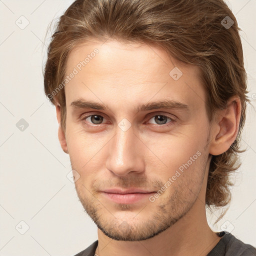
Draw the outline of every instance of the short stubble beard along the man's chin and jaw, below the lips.
M96 192L88 192L81 182L76 182L75 188L85 212L106 236L114 240L140 241L171 227L193 206L201 189L205 162L199 167L204 169L197 172L191 170L197 173L197 177L191 180L186 176L184 179L175 180L171 188L167 188L154 202L148 200L134 214L130 214L134 209L132 204L115 204L116 210L129 211L129 215L133 215L131 217L115 217L114 212L107 208L107 203L97 198ZM170 191L172 193L167 194ZM84 192L87 192L88 197Z

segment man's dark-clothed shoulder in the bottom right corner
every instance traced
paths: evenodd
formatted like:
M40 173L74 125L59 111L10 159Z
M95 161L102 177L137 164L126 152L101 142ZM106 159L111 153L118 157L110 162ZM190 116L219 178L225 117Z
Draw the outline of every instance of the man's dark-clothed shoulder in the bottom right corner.
M207 256L256 256L256 248L228 232L219 232L222 238Z

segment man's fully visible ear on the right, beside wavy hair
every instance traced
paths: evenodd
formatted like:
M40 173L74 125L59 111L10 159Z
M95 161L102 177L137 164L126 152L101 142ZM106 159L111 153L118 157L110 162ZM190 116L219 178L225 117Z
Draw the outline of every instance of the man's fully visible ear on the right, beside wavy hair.
M232 96L226 108L218 110L212 121L210 154L219 155L228 150L237 136L240 117L241 101L238 96Z

